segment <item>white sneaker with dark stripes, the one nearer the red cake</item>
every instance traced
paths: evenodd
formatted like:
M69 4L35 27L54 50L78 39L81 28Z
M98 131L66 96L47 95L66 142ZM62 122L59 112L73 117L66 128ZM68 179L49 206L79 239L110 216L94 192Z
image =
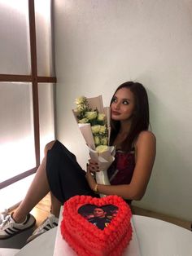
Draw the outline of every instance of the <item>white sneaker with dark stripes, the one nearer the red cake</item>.
M37 236L40 236L41 234L47 232L53 227L58 226L59 218L56 218L54 214L50 214L49 217L47 217L43 223L37 229L33 232L31 236L28 237L27 243L30 241L33 241L34 238Z

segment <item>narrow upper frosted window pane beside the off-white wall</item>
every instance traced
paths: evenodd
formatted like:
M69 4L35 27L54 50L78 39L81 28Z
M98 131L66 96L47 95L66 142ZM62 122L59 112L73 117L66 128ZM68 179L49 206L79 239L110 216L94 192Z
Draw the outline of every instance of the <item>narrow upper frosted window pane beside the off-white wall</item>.
M37 74L38 76L55 76L52 45L51 1L35 0Z

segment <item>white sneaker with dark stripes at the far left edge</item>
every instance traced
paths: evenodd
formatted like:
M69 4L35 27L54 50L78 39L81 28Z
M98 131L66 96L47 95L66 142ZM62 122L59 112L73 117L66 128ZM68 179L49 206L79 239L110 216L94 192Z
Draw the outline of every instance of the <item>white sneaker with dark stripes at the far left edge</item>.
M0 225L0 240L7 239L19 234L20 232L24 232L24 230L33 227L36 223L36 219L32 214L28 214L23 223L15 223L15 220L11 215L8 214L6 218L2 220L2 224Z

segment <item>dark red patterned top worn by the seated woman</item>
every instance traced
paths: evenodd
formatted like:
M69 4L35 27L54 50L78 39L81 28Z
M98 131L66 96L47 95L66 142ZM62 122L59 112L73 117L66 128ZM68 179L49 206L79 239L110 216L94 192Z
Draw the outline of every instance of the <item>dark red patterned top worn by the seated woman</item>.
M135 168L135 152L116 151L115 161L107 170L111 185L129 184Z

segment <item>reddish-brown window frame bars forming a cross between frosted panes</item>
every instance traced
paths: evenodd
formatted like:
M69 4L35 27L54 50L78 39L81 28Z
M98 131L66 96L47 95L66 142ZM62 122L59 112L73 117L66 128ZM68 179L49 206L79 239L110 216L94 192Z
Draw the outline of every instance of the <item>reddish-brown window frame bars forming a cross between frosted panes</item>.
M50 8L52 9L52 1ZM10 179L0 183L0 189L5 188L12 183L24 179L37 171L40 165L40 128L39 128L39 104L38 104L38 83L51 82L56 83L56 77L41 77L37 75L37 43L36 43L36 25L35 25L35 7L34 0L28 0L28 20L29 20L29 40L31 54L31 75L0 74L0 82L31 82L33 88L33 127L36 166L33 169L26 170Z

